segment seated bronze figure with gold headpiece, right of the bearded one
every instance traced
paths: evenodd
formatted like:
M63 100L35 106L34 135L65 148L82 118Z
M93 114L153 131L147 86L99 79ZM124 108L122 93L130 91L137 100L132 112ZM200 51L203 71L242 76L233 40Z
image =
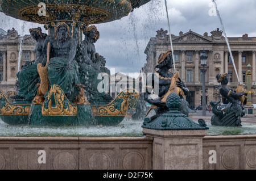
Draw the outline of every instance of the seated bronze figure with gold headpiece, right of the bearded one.
M80 82L85 85L85 92L89 102L101 104L103 102L113 100L106 92L98 91L98 79L100 73L106 73L106 77L110 78L110 71L105 68L105 58L96 53L94 43L100 37L96 26L90 26L84 30L85 39L80 45ZM110 79L109 79L110 82ZM109 86L109 85L105 85ZM109 87L110 88L110 87Z

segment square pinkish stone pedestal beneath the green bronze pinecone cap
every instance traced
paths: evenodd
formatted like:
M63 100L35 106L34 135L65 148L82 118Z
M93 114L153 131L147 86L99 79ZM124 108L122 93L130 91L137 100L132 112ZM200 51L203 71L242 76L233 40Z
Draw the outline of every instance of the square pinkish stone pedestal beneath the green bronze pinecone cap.
M202 170L203 137L207 130L155 130L143 128L153 137L152 169Z

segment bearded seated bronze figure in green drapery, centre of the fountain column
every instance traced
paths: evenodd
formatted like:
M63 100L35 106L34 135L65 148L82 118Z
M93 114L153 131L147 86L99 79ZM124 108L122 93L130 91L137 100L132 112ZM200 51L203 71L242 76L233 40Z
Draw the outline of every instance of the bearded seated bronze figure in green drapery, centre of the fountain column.
M75 61L77 40L69 33L68 25L56 26L56 37L47 36L44 51L49 43L49 64L47 65L49 86L59 85L68 99L74 98L75 86L79 84L78 64Z

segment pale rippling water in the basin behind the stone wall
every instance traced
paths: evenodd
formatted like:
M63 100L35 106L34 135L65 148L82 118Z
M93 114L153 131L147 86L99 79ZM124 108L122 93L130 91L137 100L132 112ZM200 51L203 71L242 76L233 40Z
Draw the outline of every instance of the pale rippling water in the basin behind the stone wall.
M118 125L90 127L36 127L8 125L0 120L0 136L143 136L142 120L125 119ZM256 134L256 124L242 123L242 127L218 127L207 122L207 133L213 135Z

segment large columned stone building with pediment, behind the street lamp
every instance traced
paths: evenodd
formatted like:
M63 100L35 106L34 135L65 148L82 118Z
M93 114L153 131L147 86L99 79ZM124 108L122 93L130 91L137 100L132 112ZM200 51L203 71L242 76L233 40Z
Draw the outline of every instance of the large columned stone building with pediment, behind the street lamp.
M147 63L144 65L144 73L152 73L154 67L158 64L158 58L161 53L166 53L171 49L170 36L168 31L162 28L157 32L156 37L151 37L144 51L147 55ZM205 50L208 55L208 62L205 69L206 73L206 96L207 104L212 100L219 100L219 83L216 79L218 73L228 73L230 76L229 86L236 90L238 79L232 59L229 54L228 46L222 31L218 28L210 32L210 36L205 32L199 35L196 32L180 32L179 36L172 35L172 44L174 48L174 59L176 70L180 71L181 79L187 85L190 95L187 96L190 108L201 105L202 83L200 52ZM246 70L250 64L252 68L252 82L256 83L256 37L249 37L247 34L241 37L228 37L230 48L237 69L240 82L245 83L246 89ZM253 95L253 103L256 103L256 96Z

